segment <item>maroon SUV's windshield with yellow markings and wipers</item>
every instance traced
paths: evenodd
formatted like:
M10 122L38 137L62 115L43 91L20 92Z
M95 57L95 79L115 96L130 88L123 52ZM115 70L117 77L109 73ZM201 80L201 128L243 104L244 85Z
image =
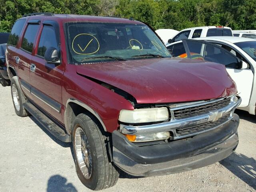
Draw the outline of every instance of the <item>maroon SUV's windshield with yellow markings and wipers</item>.
M66 26L73 64L171 57L146 25L76 22Z

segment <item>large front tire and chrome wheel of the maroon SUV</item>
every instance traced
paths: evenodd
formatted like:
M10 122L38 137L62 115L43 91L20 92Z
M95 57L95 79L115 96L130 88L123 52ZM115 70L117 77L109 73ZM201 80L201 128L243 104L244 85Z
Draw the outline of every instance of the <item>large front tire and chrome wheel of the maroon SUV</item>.
M81 182L91 190L102 190L112 187L119 178L119 173L115 166L108 159L105 146L106 136L102 135L101 130L102 126L96 118L86 113L79 114L74 120L72 146L76 173ZM84 138L84 148L82 138ZM81 150L79 150L80 148ZM82 152L85 148L86 152ZM84 158L81 159L82 153L87 154L87 158L83 156Z

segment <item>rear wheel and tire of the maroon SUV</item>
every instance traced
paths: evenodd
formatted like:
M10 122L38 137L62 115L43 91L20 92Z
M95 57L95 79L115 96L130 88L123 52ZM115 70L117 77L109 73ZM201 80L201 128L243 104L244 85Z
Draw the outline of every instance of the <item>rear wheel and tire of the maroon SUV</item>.
M23 104L26 102L20 84L18 82L18 77L14 76L11 80L11 93L12 93L12 102L14 105L15 112L20 117L28 116L28 112L25 110Z

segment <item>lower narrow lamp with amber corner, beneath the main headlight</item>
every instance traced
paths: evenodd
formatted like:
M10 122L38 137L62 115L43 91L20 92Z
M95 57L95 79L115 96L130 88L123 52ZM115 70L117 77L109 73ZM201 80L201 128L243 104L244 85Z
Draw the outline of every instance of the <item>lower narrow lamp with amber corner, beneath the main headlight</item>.
M147 142L147 141L166 140L170 138L170 132L125 135L125 136L131 142Z

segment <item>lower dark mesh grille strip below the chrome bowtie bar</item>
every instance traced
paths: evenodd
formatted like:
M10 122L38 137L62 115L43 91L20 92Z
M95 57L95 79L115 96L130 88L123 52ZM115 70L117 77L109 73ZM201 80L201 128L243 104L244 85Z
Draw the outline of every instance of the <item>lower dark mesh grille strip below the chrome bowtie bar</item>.
M220 126L221 124L227 122L230 119L230 113L223 116L222 118L218 119L215 122L205 122L197 125L192 126L186 126L183 128L176 129L177 136L185 136L190 134L195 134L199 132L205 132L207 130L216 128L217 126Z

